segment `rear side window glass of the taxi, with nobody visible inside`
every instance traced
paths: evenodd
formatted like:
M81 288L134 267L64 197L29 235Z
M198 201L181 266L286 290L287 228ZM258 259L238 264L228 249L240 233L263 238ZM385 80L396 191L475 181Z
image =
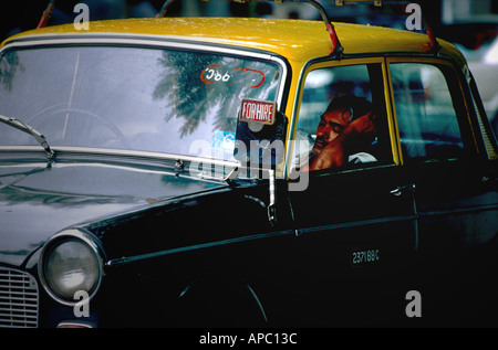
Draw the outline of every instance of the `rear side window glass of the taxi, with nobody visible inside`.
M422 63L390 70L404 159L458 158L464 142L444 72Z

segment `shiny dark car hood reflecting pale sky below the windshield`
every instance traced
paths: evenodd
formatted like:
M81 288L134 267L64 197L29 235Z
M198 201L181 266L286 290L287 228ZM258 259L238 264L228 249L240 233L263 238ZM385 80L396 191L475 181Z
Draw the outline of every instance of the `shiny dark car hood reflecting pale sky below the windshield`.
M46 238L68 226L225 185L143 166L2 165L0 263L22 265Z

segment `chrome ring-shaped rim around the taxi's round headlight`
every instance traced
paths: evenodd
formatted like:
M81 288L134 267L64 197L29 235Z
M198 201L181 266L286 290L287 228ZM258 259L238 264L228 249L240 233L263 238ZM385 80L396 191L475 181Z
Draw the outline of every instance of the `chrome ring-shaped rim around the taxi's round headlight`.
M104 250L102 248L102 244L101 244L100 240L97 237L95 237L92 233L83 231L81 229L70 229L70 230L61 231L61 232L54 234L53 236L51 236L49 238L49 241L46 241L45 244L43 244L41 254L39 257L39 263L38 263L38 274L40 277L41 285L43 286L43 289L46 291L46 294L52 299L54 299L55 301L58 301L62 305L65 305L65 306L74 306L77 303L80 303L81 300L68 300L68 299L59 296L56 293L54 293L51 289L50 284L46 280L46 276L45 276L45 263L46 263L48 256L53 251L53 248L63 244L64 242L70 242L70 241L82 242L92 251L92 253L94 254L94 256L96 258L98 277L96 278L94 286L89 291L89 300L95 296L95 294L98 291L98 289L101 287L102 279L105 275L104 266L105 266L105 261L106 261L106 256L105 256Z

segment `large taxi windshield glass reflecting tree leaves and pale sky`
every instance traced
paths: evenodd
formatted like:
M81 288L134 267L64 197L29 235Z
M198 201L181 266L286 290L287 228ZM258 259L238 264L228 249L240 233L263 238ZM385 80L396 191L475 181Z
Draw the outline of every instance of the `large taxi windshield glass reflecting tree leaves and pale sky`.
M8 50L0 115L37 129L52 147L231 160L241 100L276 102L280 70L262 59L165 47ZM0 124L0 146L35 142Z

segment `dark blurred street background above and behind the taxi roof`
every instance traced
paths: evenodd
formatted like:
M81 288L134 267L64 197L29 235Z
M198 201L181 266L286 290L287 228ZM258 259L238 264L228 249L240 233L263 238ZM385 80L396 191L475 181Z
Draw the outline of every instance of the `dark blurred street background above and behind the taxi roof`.
M405 29L409 13L405 6L372 4L336 7L335 0L318 0L333 21ZM86 3L90 20L155 17L164 0L58 0L49 25L71 23L79 13L74 6ZM458 46L467 57L488 117L498 132L498 0L418 0L424 18L437 36ZM49 0L3 2L0 11L0 40L34 29ZM382 12L382 15L381 13ZM307 3L249 2L225 0L176 0L167 17L263 17L320 20Z

